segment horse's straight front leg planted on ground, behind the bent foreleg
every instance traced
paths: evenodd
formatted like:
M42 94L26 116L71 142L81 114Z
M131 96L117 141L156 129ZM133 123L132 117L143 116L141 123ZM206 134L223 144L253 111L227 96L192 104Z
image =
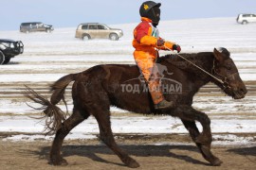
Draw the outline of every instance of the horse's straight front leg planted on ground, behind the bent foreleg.
M220 165L222 163L222 161L220 161L217 157L215 157L214 155L212 155L212 153L210 152L210 144L209 145L204 145L204 144L200 144L198 142L196 142L196 138L199 136L199 130L195 125L194 121L186 121L181 119L182 123L184 124L184 126L189 130L190 135L192 137L192 141L197 145L197 147L199 148L200 152L202 153L203 157L207 160L210 161L210 163L212 165Z

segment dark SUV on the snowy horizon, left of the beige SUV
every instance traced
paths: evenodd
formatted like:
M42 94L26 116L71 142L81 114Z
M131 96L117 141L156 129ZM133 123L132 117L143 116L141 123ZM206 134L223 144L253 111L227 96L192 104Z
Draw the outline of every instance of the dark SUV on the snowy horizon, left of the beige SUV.
M45 25L41 22L30 22L30 23L22 23L20 26L20 32L35 32L35 31L45 31L51 32L54 28L51 25Z

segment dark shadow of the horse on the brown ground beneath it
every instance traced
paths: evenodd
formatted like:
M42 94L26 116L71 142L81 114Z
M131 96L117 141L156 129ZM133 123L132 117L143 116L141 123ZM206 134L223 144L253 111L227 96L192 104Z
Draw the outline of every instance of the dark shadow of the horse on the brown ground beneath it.
M210 165L208 162L205 161L198 161L194 158L184 155L184 154L176 154L174 152L178 151L192 151L198 152L198 148L192 145L121 145L121 148L127 151L131 156L137 157L170 157L182 161L187 161L194 164L203 164L203 165ZM174 151L175 150L175 151ZM41 147L39 151L31 151L26 150L24 152L28 152L28 154L38 155L41 159L49 160L49 146ZM87 157L92 161L100 161L105 163L113 163L124 166L122 163L111 162L102 159L97 154L104 154L104 155L116 155L113 153L107 146L105 145L64 145L62 147L63 157L68 156L81 156ZM200 154L198 152L198 154Z

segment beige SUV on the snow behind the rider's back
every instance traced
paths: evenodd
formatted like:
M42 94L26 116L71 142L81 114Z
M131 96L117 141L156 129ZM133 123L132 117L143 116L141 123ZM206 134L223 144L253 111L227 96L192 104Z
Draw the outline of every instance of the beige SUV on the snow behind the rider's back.
M123 36L121 29L111 28L99 23L82 23L77 27L76 38L83 41L90 39L110 39L118 41Z

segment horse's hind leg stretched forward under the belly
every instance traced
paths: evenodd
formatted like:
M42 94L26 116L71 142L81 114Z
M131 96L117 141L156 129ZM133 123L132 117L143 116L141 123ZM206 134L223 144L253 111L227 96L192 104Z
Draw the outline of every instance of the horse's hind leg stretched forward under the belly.
M118 156L119 159L127 166L136 168L139 166L137 161L129 157L129 155L121 150L116 144L112 129L110 127L110 113L109 110L94 110L94 116L98 121L100 127L100 136L104 144L111 148Z

